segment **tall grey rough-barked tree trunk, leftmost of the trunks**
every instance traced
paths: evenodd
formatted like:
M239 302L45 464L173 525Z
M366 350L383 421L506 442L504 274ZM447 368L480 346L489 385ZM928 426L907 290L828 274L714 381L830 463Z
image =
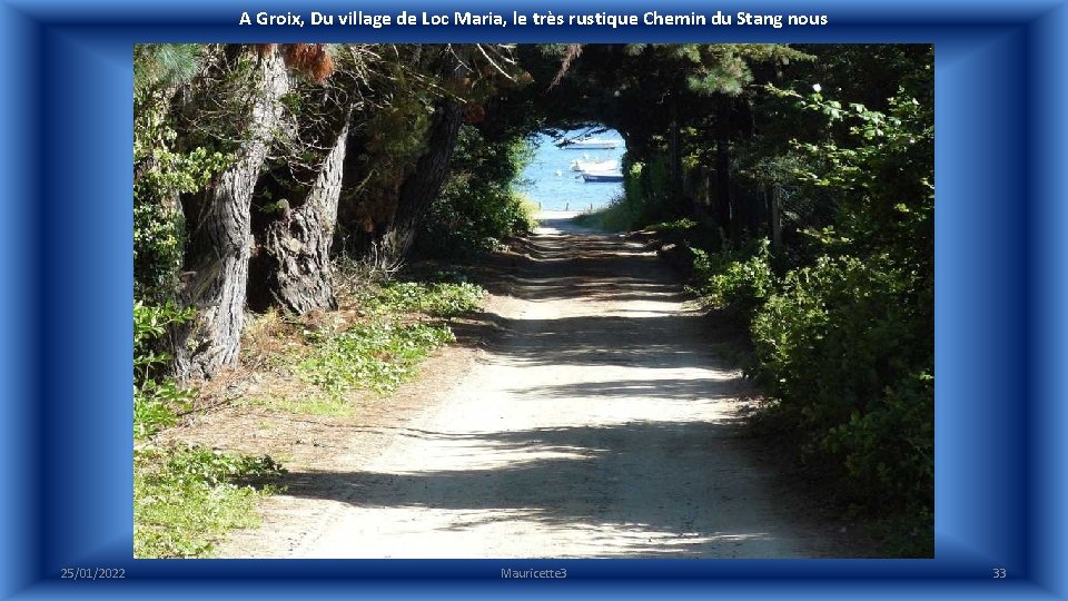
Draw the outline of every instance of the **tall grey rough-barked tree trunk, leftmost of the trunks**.
M251 249L249 204L281 120L278 100L289 89L277 50L253 60L246 141L234 165L186 206L190 231L179 298L197 314L174 333L175 374L182 381L210 377L234 363L240 348Z

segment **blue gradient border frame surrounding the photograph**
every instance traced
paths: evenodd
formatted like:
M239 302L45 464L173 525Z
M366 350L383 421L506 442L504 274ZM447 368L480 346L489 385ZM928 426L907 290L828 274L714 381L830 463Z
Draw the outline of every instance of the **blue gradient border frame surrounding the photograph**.
M291 6L290 6L291 4ZM824 13L818 28L238 27L298 2L0 0L0 597L961 595L1065 599L1068 4L698 1L661 12ZM644 12L654 3L456 0ZM316 10L443 11L423 0ZM307 12L307 10L301 10ZM134 561L131 46L139 41L783 41L936 46L933 560ZM566 566L553 584L500 569ZM112 582L66 566L126 568ZM993 568L1008 579L991 579ZM448 587L442 585L447 581Z

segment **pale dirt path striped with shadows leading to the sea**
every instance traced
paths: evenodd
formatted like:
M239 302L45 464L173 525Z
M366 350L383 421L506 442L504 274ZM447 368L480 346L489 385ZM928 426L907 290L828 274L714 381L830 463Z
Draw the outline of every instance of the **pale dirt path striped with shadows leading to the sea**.
M803 558L840 552L738 436L741 374L656 257L545 219L500 334L403 425L294 473L224 556ZM370 436L370 439L368 439ZM372 444L368 445L368 440Z

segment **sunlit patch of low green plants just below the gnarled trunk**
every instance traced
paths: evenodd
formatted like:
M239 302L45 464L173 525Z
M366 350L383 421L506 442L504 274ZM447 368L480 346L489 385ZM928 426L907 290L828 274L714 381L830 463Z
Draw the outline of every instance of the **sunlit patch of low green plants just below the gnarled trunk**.
M333 335L297 365L298 375L332 395L353 388L395 390L431 351L454 342L448 326L357 324Z

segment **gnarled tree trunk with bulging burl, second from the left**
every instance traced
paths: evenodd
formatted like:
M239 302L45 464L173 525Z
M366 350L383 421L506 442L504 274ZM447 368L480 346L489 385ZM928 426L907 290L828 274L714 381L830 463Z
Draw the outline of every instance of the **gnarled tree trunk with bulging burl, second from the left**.
M337 308L330 244L337 224L348 128L346 117L304 203L284 208L281 217L267 227L264 250L269 295L276 304L298 315Z

